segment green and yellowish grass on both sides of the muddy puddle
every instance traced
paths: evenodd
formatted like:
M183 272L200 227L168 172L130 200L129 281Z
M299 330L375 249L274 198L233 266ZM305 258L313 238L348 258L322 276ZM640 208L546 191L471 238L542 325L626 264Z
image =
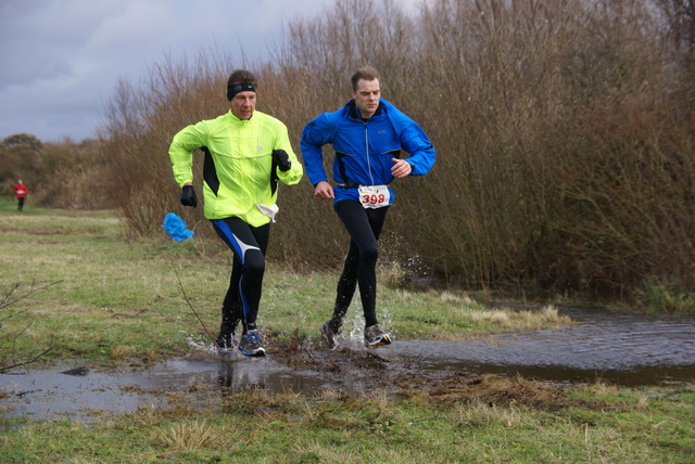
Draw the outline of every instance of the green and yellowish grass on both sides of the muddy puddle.
M146 365L216 334L229 252L217 243L129 240L112 212L0 202L0 368L80 359ZM270 240L270 246L278 246ZM381 281L399 272L384 263ZM261 328L270 356L314 344L337 273L268 263ZM570 323L553 308L490 310L463 293L379 287L396 338L463 339ZM355 302L351 312L358 311ZM200 318L200 319L199 319ZM50 350L49 350L50 349ZM320 348L316 348L320 349ZM208 408L180 401L90 424L0 415L0 462L690 463L695 386L558 386L452 375L315 398L249 390ZM0 397L0 412L2 398Z

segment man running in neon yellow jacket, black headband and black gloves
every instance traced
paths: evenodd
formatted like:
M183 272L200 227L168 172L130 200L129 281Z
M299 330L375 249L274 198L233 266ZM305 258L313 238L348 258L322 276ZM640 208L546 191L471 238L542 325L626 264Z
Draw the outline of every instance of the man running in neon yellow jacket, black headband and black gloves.
M235 345L244 356L265 356L256 317L265 272L270 222L278 211L277 183L296 184L304 172L292 151L287 127L255 111L256 79L235 70L227 82L229 113L178 132L169 146L174 177L181 186L179 201L198 205L193 189L193 152L204 153L204 214L219 237L233 252L229 288L222 307L215 340L220 350Z

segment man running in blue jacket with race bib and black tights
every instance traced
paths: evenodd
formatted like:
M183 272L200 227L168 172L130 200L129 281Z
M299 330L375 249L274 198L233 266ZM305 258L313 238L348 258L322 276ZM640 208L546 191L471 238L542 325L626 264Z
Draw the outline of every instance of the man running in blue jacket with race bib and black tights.
M319 332L329 347L337 345L343 318L357 284L365 317L365 344L389 345L391 336L377 321L378 240L395 195L393 179L422 176L434 164L434 146L425 131L391 103L381 99L379 75L371 67L352 76L352 100L333 113L324 113L302 131L304 167L318 199L332 199L350 233L350 248L333 315ZM324 169L323 146L332 144L334 188ZM410 156L401 158L401 151Z

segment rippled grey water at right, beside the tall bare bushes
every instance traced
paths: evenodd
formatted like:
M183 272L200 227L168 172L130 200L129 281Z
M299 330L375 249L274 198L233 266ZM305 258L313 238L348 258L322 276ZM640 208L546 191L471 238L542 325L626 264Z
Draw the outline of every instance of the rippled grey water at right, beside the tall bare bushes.
M462 343L404 341L394 355L422 369L637 386L695 379L695 318L564 309L576 325Z

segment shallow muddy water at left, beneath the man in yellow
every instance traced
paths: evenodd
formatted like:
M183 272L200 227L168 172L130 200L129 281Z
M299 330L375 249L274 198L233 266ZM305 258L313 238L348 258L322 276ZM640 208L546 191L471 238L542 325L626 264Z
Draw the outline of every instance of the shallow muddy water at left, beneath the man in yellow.
M101 414L165 408L173 403L173 394L218 401L249 388L306 392L324 384L314 373L290 369L270 357L230 362L210 355L198 358L170 359L135 371L89 370L85 375L64 374L71 368L65 364L0 374L0 391L8 395L0 398L0 415L88 422Z

